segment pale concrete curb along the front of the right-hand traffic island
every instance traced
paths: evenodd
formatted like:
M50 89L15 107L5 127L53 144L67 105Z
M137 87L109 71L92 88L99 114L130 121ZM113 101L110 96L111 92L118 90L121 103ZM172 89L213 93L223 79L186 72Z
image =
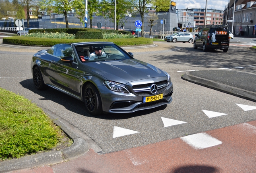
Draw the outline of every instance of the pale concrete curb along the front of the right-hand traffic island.
M221 84L219 82L215 82L213 80L208 80L205 78L200 78L197 76L193 76L192 74L190 74L190 72L186 72L183 76L182 79L187 80L189 82L193 82L199 85L202 85L204 87L208 87L211 89L215 89L217 91L221 91L230 95L234 95L237 97L241 97L243 99L247 99L250 101L254 101L256 102L256 93L252 92L252 91L247 91L244 89L239 89L236 87L232 87L226 84Z

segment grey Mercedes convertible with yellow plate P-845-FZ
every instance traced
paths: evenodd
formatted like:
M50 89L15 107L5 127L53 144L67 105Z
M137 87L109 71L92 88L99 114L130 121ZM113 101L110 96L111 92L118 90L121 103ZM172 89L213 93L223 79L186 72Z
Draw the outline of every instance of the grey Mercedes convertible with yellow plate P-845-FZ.
M112 42L56 44L33 55L31 70L37 89L49 86L84 101L91 115L132 113L172 101L167 72Z

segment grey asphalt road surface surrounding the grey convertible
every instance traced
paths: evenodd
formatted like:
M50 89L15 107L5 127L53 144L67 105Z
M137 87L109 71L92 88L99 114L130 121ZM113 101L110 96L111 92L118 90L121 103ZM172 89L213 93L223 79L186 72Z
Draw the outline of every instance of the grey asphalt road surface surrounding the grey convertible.
M134 52L134 58L149 62L171 75L173 102L167 107L92 117L85 111L83 102L54 89L37 91L33 87L30 62L33 52L37 49L9 49L0 46L0 87L24 95L39 107L68 121L95 141L95 152L100 153L145 146L256 120L256 110L245 112L236 105L256 106L255 102L202 87L181 78L187 70L219 68L256 74L255 51L244 47L230 47L227 53L221 50L205 53L200 48L193 49L193 44L188 43L156 44L161 44L164 48L127 51ZM210 119L202 110L227 115ZM162 117L186 123L164 127ZM114 129L117 127L136 133L114 137Z

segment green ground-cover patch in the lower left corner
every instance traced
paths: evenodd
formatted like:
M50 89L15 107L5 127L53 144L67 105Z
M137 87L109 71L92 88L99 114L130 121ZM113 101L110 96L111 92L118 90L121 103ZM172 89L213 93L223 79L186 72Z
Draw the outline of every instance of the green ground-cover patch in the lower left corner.
M28 99L0 88L0 161L58 149L64 133ZM71 145L71 140L66 140Z

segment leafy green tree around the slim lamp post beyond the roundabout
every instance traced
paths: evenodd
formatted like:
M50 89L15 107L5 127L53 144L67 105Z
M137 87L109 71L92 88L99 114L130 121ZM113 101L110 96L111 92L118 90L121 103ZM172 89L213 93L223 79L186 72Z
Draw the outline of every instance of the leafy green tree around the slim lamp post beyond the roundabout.
M103 0L104 14L110 19L111 22L115 22L115 0ZM127 9L132 8L132 3L129 0L116 0L116 30L118 30L119 23L122 24Z

